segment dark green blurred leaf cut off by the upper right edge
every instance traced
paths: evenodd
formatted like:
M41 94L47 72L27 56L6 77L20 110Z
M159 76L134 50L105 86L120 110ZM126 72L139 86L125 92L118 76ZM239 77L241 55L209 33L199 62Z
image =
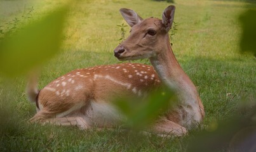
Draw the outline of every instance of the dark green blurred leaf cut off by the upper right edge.
M249 51L256 56L256 9L249 9L241 16L239 20L242 25L243 34L241 35L241 51Z

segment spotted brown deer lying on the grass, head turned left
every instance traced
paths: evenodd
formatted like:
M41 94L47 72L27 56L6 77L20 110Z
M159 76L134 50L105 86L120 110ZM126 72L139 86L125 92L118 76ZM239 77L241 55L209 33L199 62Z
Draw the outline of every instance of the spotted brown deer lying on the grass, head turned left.
M118 63L73 70L38 89L31 74L27 82L28 99L36 104L30 122L80 129L111 129L123 124L124 116L114 106L114 98L146 96L166 84L176 89L179 105L152 125L159 136L184 136L204 117L204 109L196 87L183 72L170 47L168 30L172 26L174 6L156 18L143 20L131 9L120 9L132 27L131 35L114 49L118 60L149 58L152 65ZM142 40L143 39L143 40Z

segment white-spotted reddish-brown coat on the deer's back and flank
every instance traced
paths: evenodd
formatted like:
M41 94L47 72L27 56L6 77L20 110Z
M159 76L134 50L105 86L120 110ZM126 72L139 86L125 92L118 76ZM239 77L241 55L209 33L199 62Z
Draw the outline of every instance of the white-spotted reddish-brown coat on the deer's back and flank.
M151 77L152 75L154 77ZM72 80L74 80L73 83ZM129 88L118 83L129 84ZM31 120L44 122L48 118L55 118L59 113L71 109L77 103L87 106L90 101L105 103L123 96L138 96L132 91L133 88L143 93L151 91L159 84L160 80L152 66L137 63L102 65L74 70L53 80L40 91L37 102L43 108ZM76 90L79 85L83 88ZM62 91L69 91L69 96L65 92L62 94ZM80 108L83 107L77 107L74 111L79 111Z

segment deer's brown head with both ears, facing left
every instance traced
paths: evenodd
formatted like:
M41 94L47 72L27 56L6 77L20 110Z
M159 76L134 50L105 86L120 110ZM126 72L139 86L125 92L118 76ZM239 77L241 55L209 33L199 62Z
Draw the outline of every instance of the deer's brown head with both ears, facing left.
M121 15L131 27L130 36L114 49L118 60L137 60L157 56L169 42L168 32L172 27L175 6L163 11L162 20L143 20L131 9L120 9Z

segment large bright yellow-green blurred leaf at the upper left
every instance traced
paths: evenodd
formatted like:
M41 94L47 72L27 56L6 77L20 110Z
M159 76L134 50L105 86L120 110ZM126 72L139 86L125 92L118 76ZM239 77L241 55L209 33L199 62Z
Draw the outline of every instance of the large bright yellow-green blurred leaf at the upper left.
M59 8L0 42L0 73L17 76L40 65L60 49L67 7Z

